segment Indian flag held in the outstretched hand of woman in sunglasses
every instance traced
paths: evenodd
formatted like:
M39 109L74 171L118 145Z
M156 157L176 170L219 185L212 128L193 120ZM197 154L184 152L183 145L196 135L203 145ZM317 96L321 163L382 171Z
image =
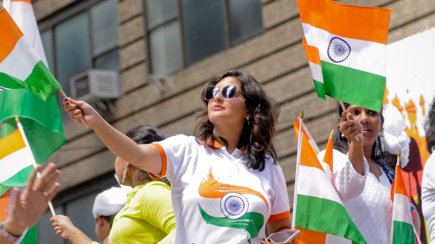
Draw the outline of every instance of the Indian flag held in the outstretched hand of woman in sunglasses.
M61 89L1 3L0 33L0 87L27 88L44 101Z

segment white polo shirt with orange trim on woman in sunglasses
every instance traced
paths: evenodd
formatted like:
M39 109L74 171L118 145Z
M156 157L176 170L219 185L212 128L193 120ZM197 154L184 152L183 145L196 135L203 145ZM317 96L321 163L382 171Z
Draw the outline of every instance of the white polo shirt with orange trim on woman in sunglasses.
M242 151L230 155L219 143L211 149L193 136L154 144L172 187L173 243L259 243L266 222L290 216L284 175L272 158L260 172L246 168Z

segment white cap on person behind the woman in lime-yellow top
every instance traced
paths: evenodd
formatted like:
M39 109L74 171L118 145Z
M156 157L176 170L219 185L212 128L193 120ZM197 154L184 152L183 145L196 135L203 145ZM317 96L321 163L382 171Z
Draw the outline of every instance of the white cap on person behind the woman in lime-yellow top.
M127 199L127 192L131 188L112 187L105 190L95 197L92 214L96 218L100 216L111 216L119 212Z

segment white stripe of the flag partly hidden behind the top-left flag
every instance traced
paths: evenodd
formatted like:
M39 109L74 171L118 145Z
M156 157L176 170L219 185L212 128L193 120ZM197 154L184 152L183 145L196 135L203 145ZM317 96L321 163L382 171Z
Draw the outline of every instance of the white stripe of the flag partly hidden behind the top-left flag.
M48 67L44 46L42 46L35 13L33 12L33 6L22 1L14 1L11 3L10 0L3 0L3 6L15 21L21 32L23 32L30 45L35 48L35 51L42 62L44 62Z

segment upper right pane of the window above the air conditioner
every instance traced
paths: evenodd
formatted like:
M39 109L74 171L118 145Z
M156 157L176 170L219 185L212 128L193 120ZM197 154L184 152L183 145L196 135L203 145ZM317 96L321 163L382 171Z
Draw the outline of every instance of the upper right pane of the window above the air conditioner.
M94 56L118 45L117 8L117 0L106 0L91 8L92 53Z

